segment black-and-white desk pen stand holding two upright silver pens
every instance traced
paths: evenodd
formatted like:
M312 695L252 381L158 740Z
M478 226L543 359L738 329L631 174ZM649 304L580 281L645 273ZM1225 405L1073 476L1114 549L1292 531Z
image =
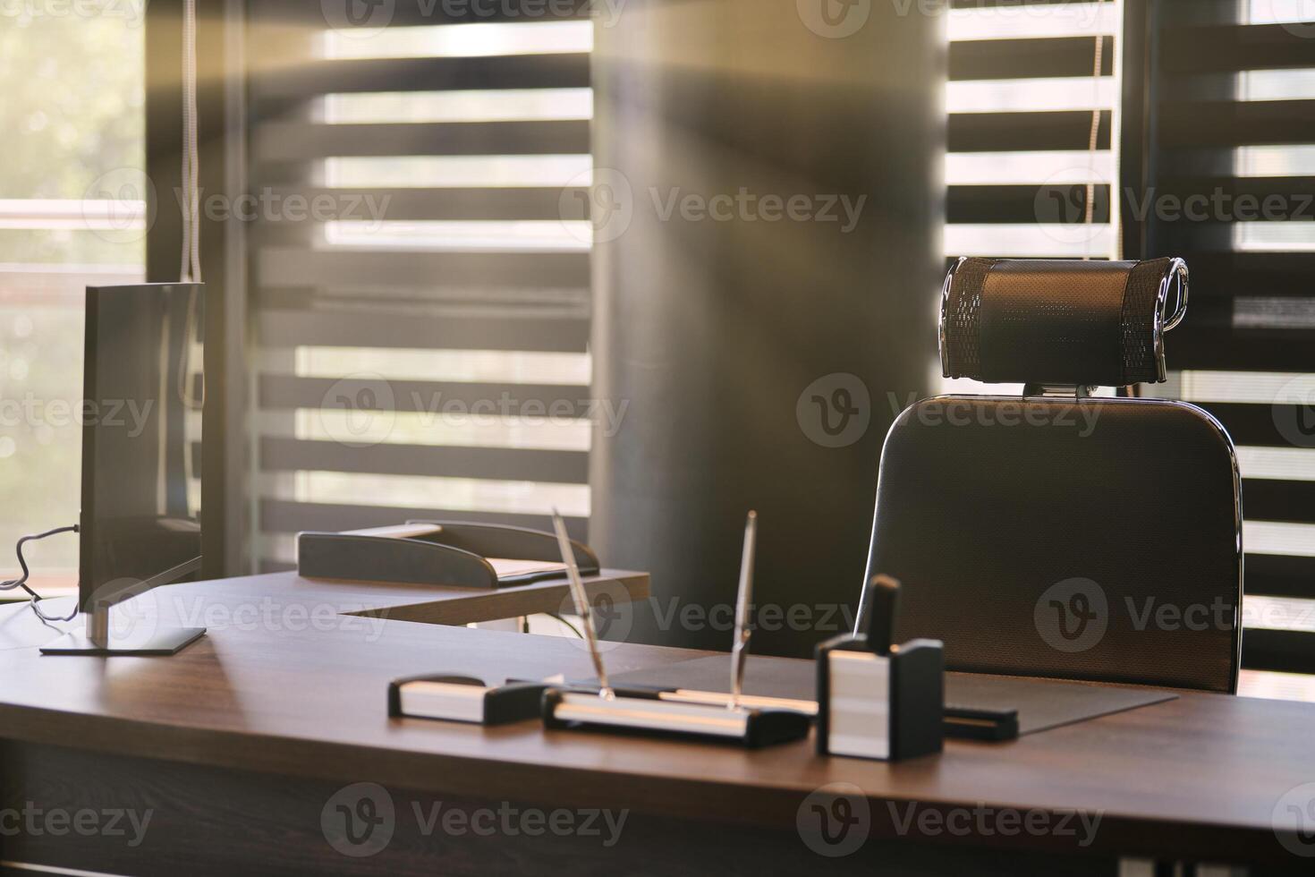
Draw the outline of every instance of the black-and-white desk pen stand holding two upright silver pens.
M725 702L701 702L673 697L671 692L623 689L608 682L602 655L589 617L589 602L579 571L569 559L565 527L555 521L558 539L567 557L567 575L576 600L593 657L597 688L550 688L543 694L543 722L550 728L588 728L638 731L700 740L723 740L746 748L802 740L809 734L810 718L792 710L753 709L740 702L744 663L751 635L750 606L753 592L753 554L757 515L748 513L744 525L744 550L740 560L739 597L735 607L735 643L731 653L731 696Z

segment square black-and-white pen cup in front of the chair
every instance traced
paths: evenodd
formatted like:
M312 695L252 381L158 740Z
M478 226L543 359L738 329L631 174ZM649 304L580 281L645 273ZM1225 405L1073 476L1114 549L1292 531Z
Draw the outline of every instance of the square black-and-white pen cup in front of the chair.
M944 746L945 659L939 640L915 639L890 655L865 636L817 648L818 755L898 761Z

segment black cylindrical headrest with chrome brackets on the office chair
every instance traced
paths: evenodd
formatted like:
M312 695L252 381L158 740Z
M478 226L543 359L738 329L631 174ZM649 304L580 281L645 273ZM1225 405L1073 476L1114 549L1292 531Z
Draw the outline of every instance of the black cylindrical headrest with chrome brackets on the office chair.
M963 258L940 305L942 371L993 384L1159 383L1164 333L1186 312L1182 259Z

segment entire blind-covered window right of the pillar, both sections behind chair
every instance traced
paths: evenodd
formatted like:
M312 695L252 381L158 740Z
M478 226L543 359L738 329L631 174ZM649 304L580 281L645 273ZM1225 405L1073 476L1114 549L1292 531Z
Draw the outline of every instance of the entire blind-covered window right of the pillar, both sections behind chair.
M1244 477L1244 667L1306 673L1315 672L1311 21L1310 0L953 3L945 235L951 256L1187 260L1189 318L1166 342L1181 371L1148 394L1201 404L1232 434ZM1141 54L1119 45L1124 34L1147 41L1148 66L1120 70ZM1088 153L1093 109L1101 122ZM1245 684L1295 685L1255 673Z

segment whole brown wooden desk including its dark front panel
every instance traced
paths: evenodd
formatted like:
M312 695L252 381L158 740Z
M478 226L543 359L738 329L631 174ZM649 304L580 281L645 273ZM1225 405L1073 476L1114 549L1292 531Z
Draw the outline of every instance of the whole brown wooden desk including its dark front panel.
M279 581L187 593L230 617L254 598L308 607L325 598ZM263 585L271 593L259 594ZM697 655L618 644L608 663L623 672ZM802 743L744 752L544 732L535 722L485 730L388 719L387 682L430 671L590 675L576 640L392 618L377 628L216 626L167 659L0 651L0 832L5 809L151 811L135 847L132 831L21 831L0 834L0 860L120 874L481 877L1110 874L1119 856L1306 873L1315 861L1287 852L1273 830L1276 811L1294 819L1283 795L1315 782L1315 706L1306 703L1184 694L1009 744L951 742L942 756L882 764L819 759ZM342 792L360 782L381 786L393 807L391 840L368 857L338 852L322 822L339 805L360 824L381 813L356 809L359 789ZM868 815L853 817L865 839L856 852L823 859L803 838L817 845L813 805L828 802L810 795L831 784L849 784ZM606 831L546 828L552 819L581 827L590 809L625 811L614 844ZM1066 815L1074 809L1099 817L1094 832ZM448 811L467 822L444 827Z

